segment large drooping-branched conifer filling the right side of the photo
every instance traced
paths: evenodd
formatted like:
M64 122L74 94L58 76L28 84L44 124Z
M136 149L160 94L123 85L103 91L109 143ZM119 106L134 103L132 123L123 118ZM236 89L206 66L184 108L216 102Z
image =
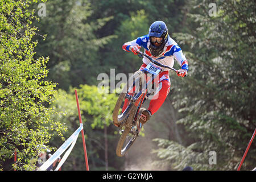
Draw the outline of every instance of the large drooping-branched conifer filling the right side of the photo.
M190 47L189 75L177 82L185 89L175 92L175 107L179 125L185 129L184 146L192 148L191 154L205 156L216 151L217 165L211 166L206 158L186 161L198 169L203 165L201 169L234 170L256 126L256 97L251 92L256 86L255 5L251 1L216 1L216 14L210 16L210 1L196 3L197 14L188 14L188 24L198 27L189 34L175 34ZM253 169L255 144L246 158L242 168Z

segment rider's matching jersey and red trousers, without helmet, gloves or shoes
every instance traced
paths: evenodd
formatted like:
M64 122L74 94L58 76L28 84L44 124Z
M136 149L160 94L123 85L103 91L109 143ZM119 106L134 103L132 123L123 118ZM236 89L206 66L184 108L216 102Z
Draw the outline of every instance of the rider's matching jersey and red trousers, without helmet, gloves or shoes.
M181 69L186 69L188 71L188 61L186 57L183 55L183 52L181 51L181 48L177 45L177 43L168 35L168 39L166 42L166 45L164 46L163 52L158 56L152 56L149 46L150 46L150 40L148 35L141 36L135 40L132 40L130 42L124 43L122 48L123 50L130 52L129 48L130 46L141 46L144 48L144 53L152 59L158 61L159 63L163 65L167 65L168 67L174 67L174 57L176 61L179 63ZM150 60L148 60L147 57L143 57L142 59L143 64L141 65L140 70L144 69L148 63L151 63ZM156 113L156 111L159 110L159 108L162 106L164 100L166 100L166 97L168 93L170 92L171 88L171 82L169 77L169 71L168 68L163 68L163 72L159 73L158 75L158 88L156 89L156 92L154 93L154 96L151 98L150 105L148 106L148 109L151 114ZM124 111L127 107L128 100L125 100L125 103L123 105L122 111Z

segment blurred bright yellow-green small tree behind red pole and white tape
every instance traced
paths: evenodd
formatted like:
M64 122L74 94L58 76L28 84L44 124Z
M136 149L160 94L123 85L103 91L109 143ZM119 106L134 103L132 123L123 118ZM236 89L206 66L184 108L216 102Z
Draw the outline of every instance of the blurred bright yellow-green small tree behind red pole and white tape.
M100 89L100 88L99 88ZM96 170L104 167L104 133L102 129L107 127L109 140L109 158L114 159L115 144L118 137L115 137L114 131L116 127L110 125L112 122L112 113L117 96L108 94L98 90L97 86L80 85L77 89L79 104L81 110L81 118L84 126L86 148L89 158L90 170ZM69 92L59 89L56 95L56 102L53 104L56 111L63 112L64 115L53 115L55 121L65 123L68 127L67 133L64 134L68 138L79 127L79 115L77 111L75 89L69 88ZM59 147L63 141L56 142L52 140L52 144ZM65 170L84 170L84 150L82 148L81 135L77 139L75 148L71 152L63 169ZM109 162L109 167L118 168L121 163L115 163L114 160Z

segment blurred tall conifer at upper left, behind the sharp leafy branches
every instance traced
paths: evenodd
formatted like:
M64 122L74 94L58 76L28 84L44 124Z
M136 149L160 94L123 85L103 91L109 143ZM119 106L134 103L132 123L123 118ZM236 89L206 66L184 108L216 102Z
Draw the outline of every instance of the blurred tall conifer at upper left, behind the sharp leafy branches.
M90 20L93 10L88 0L49 1L46 9L46 17L36 26L48 38L40 41L36 52L50 57L49 77L65 90L70 85L94 84L101 72L98 49L115 37L96 36L94 32L113 17Z

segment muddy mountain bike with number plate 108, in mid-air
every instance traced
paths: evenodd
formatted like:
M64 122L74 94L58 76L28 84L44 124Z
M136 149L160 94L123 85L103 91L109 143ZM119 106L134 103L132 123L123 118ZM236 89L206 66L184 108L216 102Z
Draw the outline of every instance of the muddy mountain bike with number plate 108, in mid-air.
M153 60L150 56L138 52L139 57L147 57L151 63L147 67L135 72L127 81L113 111L113 124L119 127L121 137L119 138L116 154L123 156L135 142L142 130L143 124L139 122L141 113L139 109L156 88L155 78L168 68L177 73L177 70ZM162 67L162 68L161 68ZM158 83L158 79L156 79ZM125 102L126 100L126 102ZM126 103L126 106L124 104Z

